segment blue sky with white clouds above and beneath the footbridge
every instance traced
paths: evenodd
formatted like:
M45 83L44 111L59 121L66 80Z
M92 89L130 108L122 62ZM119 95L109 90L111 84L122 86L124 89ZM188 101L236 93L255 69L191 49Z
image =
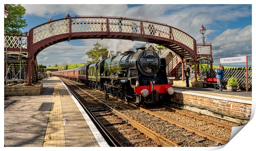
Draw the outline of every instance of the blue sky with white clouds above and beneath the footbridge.
M71 16L123 16L167 23L201 42L199 28L206 28L206 43L212 43L215 63L219 58L248 55L251 66L251 5L23 5L28 26L23 31L53 20ZM85 63L85 53L100 42L109 49L128 50L143 42L118 39L83 39L61 42L38 55L43 65ZM242 63L243 64L243 63ZM240 64L241 65L241 64Z

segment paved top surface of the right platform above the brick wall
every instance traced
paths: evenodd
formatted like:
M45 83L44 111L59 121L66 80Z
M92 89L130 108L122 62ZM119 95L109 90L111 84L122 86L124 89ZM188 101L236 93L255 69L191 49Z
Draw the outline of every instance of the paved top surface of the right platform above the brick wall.
M222 92L218 92L218 89L215 90L214 88L197 88L197 87L185 88L182 86L173 86L173 88L178 91L187 91L187 92L194 92L194 93L201 93L201 94L208 94L208 95L218 95L221 97L241 99L241 100L251 100L251 91L230 92L227 90L223 90Z

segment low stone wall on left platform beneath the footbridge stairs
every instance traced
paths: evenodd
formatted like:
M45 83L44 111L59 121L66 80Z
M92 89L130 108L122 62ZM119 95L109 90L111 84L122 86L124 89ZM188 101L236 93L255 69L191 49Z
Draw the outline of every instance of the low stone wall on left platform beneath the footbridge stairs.
M32 86L7 86L5 87L5 95L39 95L43 91L43 84L33 84Z

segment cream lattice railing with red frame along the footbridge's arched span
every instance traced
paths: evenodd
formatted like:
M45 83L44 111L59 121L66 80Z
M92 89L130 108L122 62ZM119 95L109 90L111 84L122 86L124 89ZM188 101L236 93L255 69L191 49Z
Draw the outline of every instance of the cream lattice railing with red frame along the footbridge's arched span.
M71 31L70 30L71 26ZM32 28L33 44L48 37L67 33L110 32L150 35L176 40L194 50L195 39L183 31L163 23L110 16L76 16L50 21Z

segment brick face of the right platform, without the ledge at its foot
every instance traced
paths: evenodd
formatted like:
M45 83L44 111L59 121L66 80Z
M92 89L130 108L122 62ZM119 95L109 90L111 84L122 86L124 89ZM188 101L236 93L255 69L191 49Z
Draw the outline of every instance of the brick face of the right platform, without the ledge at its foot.
M251 101L229 98L218 99L218 96L197 96L180 92L175 92L172 95L172 100L184 104L205 107L207 109L242 118L249 118L251 116Z

